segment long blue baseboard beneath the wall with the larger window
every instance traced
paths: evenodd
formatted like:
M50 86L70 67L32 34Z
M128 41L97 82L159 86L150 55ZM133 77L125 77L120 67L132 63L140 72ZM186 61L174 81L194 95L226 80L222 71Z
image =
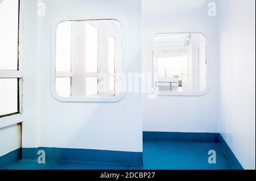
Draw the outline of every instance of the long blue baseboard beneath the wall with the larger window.
M67 148L23 148L22 159L36 159L38 150L46 151L46 160L49 161L114 163L119 165L142 165L143 163L143 154L139 152Z

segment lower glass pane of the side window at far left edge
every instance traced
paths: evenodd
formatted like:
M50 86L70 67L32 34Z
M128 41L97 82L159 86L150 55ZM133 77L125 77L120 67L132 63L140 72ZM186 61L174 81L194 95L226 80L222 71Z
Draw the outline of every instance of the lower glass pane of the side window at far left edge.
M0 116L18 112L18 79L0 79Z

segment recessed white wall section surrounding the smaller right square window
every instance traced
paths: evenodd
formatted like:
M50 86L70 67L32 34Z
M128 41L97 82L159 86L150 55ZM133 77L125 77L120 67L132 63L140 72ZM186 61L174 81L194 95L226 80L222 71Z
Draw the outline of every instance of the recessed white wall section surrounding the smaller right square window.
M143 96L143 130L218 132L217 18L208 16L206 0L142 0L143 71L152 72L156 33L201 32L207 43L210 91L204 96Z

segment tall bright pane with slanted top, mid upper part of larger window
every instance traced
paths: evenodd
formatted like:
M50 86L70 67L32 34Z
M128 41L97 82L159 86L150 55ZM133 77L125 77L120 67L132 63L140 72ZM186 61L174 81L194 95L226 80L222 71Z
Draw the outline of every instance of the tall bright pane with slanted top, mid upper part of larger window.
M98 72L98 28L86 23L85 38L86 72Z

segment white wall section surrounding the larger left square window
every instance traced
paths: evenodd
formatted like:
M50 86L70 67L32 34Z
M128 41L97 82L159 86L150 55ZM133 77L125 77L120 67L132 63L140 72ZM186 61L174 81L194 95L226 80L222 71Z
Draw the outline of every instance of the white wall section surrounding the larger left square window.
M54 35L62 20L114 18L123 30L123 68L141 71L140 2L137 0L46 0L46 16L36 17L36 2L22 1L23 148L142 151L141 95L117 103L59 102L51 94ZM37 18L37 19L36 19Z

